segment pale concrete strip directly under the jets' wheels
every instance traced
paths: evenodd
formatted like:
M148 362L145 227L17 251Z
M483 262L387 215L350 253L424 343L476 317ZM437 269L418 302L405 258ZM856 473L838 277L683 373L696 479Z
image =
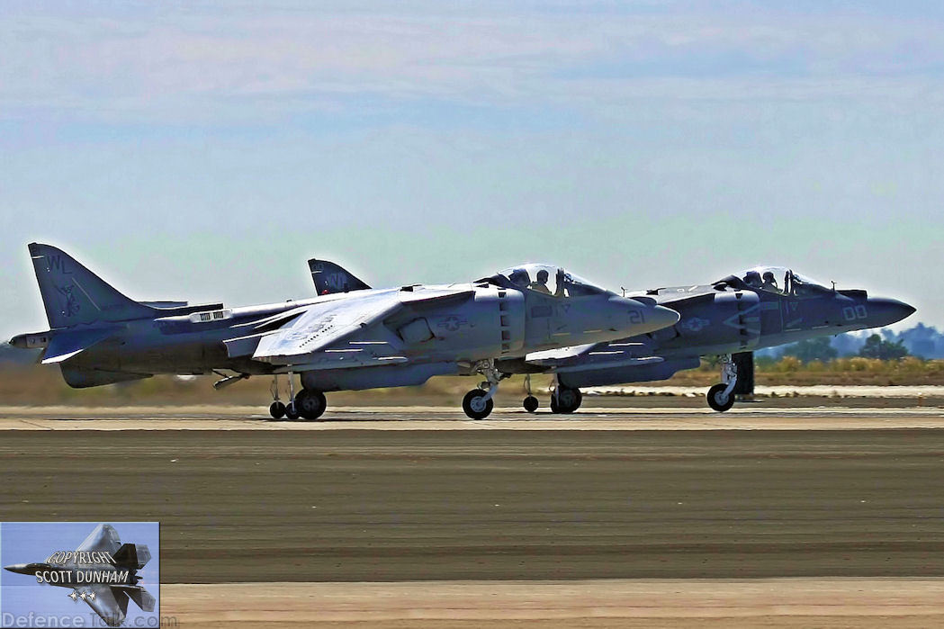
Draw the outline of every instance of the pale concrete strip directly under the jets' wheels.
M708 408L595 407L573 415L497 408L473 421L454 407L330 408L320 421L273 420L255 406L0 406L0 431L683 431L944 429L944 408L769 408L743 403L727 413Z

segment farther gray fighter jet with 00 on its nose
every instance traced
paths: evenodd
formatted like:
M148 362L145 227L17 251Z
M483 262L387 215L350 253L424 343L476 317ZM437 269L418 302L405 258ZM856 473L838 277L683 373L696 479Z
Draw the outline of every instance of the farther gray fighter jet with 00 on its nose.
M879 328L901 321L915 308L897 299L869 297L864 290L836 290L784 267L757 267L711 284L627 294L681 314L677 324L614 342L551 349L499 361L507 373L553 373L551 411L573 413L580 387L666 380L722 357L722 382L708 390L708 405L727 411L734 402L736 352L771 348L823 335ZM530 412L537 399L529 394Z

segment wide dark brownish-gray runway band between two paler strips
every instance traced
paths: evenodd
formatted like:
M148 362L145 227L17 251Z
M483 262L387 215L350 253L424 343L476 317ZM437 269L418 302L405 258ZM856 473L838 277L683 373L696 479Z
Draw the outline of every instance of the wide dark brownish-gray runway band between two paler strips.
M944 575L938 429L19 430L0 472L7 520L160 520L164 583Z

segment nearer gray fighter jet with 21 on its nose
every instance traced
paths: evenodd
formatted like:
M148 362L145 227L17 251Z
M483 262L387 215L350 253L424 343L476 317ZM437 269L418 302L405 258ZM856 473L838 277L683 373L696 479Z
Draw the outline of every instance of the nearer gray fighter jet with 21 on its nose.
M71 386L233 372L219 373L220 388L251 375L287 374L287 405L278 400L278 379L273 386L269 411L277 418L318 418L326 391L421 384L446 374L485 378L463 400L466 415L481 418L507 376L497 361L656 331L679 319L651 299L620 297L540 264L468 283L369 289L321 263L319 277L332 290L318 292L327 294L225 308L134 301L54 246L32 244L29 252L51 329L10 343L43 348L42 363L58 364Z

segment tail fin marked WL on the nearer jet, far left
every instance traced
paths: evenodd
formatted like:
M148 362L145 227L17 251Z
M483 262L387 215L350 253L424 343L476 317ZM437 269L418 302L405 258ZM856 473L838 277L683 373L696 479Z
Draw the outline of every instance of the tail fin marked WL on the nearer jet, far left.
M153 308L122 295L55 246L31 243L29 255L53 329L154 316Z

